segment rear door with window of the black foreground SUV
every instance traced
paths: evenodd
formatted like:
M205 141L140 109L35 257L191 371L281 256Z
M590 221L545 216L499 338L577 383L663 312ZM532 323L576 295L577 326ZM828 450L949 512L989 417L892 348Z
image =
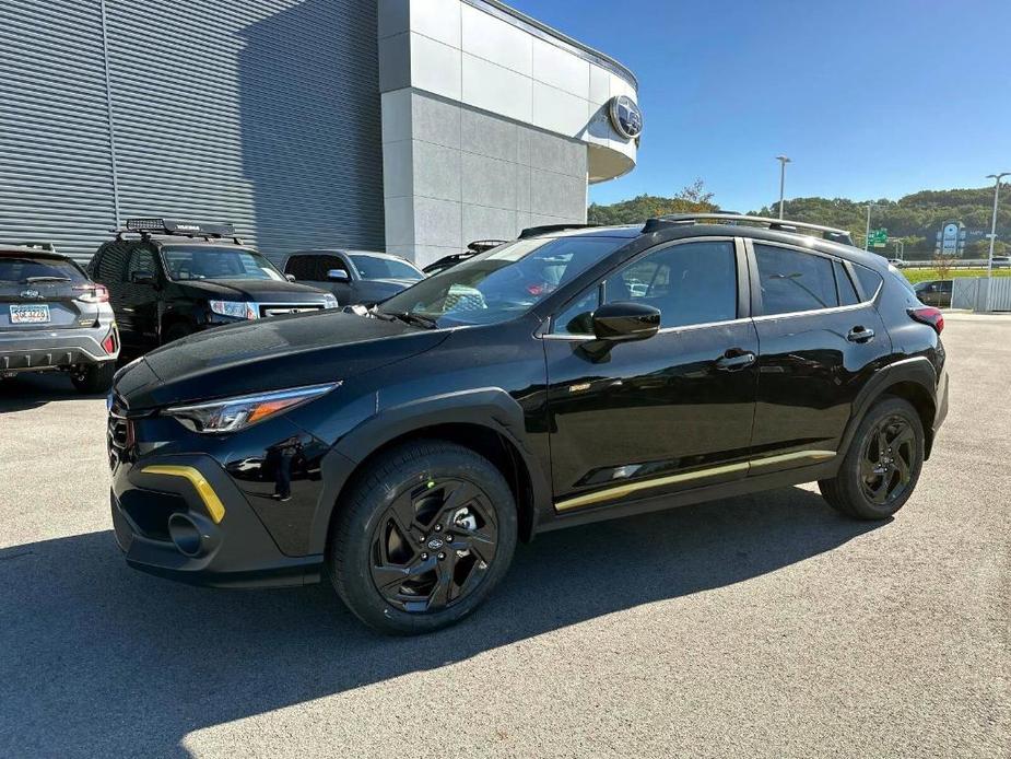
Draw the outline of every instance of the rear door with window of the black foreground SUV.
M835 455L891 340L873 305L881 280L870 269L861 278L863 267L787 245L749 240L748 249L759 335L750 474L764 475Z

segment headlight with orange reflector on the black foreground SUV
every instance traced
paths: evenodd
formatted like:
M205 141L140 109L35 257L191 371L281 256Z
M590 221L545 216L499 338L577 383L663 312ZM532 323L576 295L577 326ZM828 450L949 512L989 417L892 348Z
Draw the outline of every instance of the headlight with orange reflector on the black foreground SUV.
M333 382L326 385L295 387L290 390L222 398L193 406L176 406L166 409L165 413L174 417L183 427L193 432L208 434L237 432L281 411L291 411L296 406L329 393L340 384Z

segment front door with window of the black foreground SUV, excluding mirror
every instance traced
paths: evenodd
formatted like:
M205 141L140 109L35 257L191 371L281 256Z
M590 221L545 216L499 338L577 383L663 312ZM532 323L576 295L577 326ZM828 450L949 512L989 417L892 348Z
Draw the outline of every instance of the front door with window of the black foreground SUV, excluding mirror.
M733 240L667 245L552 319L544 346L559 511L747 475L759 342L739 285L745 268ZM660 331L600 355L591 312L620 301L659 308Z

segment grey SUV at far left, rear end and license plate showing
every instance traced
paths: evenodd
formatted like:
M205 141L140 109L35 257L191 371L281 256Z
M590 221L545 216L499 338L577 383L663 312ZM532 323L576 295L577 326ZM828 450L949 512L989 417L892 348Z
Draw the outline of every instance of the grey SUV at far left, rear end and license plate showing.
M61 371L105 393L119 357L108 293L52 249L0 245L0 377Z

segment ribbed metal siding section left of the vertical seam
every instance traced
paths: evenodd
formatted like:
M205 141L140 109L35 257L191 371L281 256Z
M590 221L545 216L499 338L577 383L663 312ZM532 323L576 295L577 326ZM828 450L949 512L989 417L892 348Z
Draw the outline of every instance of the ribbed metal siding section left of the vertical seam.
M0 242L87 257L113 224L97 0L5 0L0 12Z

